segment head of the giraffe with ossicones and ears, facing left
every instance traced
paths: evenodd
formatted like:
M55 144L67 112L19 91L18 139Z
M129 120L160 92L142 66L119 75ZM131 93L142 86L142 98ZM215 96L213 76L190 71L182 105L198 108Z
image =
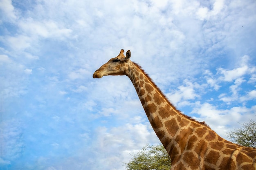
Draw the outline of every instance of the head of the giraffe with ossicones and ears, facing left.
M101 78L104 75L126 75L128 71L128 61L131 56L130 50L126 52L124 56L124 50L121 49L119 55L115 58L111 58L106 64L103 64L93 74L93 78Z

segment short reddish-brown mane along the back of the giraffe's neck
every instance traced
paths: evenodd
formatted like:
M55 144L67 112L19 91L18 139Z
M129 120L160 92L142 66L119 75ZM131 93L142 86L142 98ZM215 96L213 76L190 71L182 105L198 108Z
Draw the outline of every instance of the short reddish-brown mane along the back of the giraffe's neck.
M177 110L177 108L168 100L168 98L166 97L166 95L164 95L164 93L161 91L161 89L155 84L155 82L153 82L153 80L149 77L148 73L146 73L146 71L143 70L143 68L141 68L141 66L139 64L137 64L136 62L132 62L133 64L135 64L135 66L137 66L139 68L140 71L142 71L142 73L144 73L144 75L148 78L148 80L153 84L153 86L157 89L157 91L160 93L160 95L162 95L164 97L164 99L168 102L168 104L170 104L173 108L175 108L175 110ZM205 121L197 121L195 119L193 119L192 117L189 117L187 115L185 115L184 113L182 113L180 110L177 110L183 117L185 117L186 119L189 119L191 121L195 121L199 124L202 124L208 128L209 125L207 125L205 123Z

